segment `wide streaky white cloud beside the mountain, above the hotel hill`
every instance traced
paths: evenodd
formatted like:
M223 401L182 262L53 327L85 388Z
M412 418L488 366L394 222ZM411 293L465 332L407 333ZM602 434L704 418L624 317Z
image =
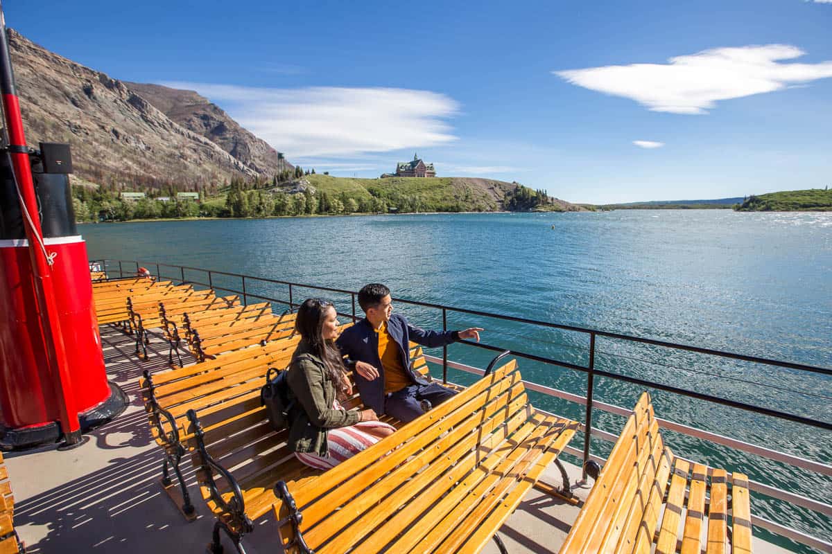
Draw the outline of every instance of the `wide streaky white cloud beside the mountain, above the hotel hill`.
M444 120L452 98L393 88L265 89L209 83L163 83L199 92L289 159L424 148L456 140Z

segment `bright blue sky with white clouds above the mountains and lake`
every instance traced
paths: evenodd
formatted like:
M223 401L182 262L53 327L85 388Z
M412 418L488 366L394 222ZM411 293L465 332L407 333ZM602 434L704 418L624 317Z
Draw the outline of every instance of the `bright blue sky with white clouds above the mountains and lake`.
M418 152L593 203L832 184L832 0L3 8L62 56L199 91L319 172Z

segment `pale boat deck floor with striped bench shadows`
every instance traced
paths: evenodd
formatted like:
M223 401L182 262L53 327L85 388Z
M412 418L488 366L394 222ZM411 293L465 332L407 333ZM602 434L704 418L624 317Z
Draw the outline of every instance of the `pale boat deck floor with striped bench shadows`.
M198 518L188 523L161 489L162 453L151 438L139 398L138 380L146 369L167 369L167 346L151 342L150 360L133 355L131 336L102 328L108 377L131 399L124 414L89 433L87 444L59 452L54 447L8 453L7 466L15 496L15 525L30 554L67 552L205 552L214 518L186 473ZM152 350L152 352L151 352ZM186 362L187 363L187 362ZM183 461L183 468L190 463ZM572 483L580 469L565 464ZM542 481L560 485L552 466ZM589 485L573 485L584 499ZM532 489L500 530L508 551L557 552L578 507ZM275 521L264 517L244 539L249 554L280 552ZM225 538L225 537L224 537ZM788 552L755 539L755 552ZM235 552L225 542L225 552ZM483 552L496 553L493 542Z

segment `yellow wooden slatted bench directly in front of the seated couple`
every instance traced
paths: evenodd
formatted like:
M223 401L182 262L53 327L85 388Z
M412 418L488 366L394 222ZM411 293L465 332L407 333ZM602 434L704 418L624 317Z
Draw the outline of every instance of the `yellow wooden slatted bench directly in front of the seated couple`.
M319 478L275 486L287 552L479 552L577 422L532 408L516 361Z

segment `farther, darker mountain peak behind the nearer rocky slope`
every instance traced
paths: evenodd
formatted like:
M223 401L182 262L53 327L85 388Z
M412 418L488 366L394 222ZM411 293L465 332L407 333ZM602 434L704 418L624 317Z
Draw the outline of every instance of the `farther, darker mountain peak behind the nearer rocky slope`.
M282 159L283 154L279 154L265 140L258 139L249 130L243 129L220 106L212 104L195 91L181 91L161 85L125 84L171 120L219 145L258 174L271 177L282 170L295 169L294 165Z

